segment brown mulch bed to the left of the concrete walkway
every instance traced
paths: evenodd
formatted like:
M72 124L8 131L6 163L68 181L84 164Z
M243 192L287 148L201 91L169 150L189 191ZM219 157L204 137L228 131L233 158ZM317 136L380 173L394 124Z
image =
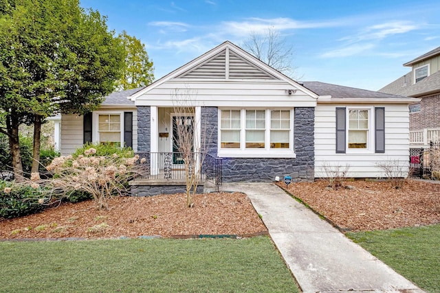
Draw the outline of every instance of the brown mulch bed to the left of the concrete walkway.
M188 209L185 195L173 194L112 198L108 211L97 210L93 201L63 204L42 213L1 221L0 239L267 233L245 194L198 194L193 202L194 207Z

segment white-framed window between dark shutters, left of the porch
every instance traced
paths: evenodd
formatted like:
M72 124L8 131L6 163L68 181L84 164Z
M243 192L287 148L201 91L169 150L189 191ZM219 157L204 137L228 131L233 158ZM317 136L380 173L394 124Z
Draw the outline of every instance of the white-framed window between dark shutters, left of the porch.
M124 113L94 112L94 142L109 143L120 147L124 145Z

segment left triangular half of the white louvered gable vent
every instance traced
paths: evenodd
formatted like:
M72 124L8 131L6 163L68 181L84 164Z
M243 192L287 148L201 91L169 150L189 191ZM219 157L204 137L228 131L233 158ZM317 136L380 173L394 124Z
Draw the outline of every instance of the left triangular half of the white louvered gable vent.
M226 76L226 50L212 57L210 60L195 67L184 74L179 75L179 78L208 78L208 79L224 79Z

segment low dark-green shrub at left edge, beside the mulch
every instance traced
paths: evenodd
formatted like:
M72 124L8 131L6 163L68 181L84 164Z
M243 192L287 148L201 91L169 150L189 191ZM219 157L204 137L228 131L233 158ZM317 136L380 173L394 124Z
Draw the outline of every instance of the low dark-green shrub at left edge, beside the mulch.
M40 188L0 181L0 218L17 218L43 211L47 205Z

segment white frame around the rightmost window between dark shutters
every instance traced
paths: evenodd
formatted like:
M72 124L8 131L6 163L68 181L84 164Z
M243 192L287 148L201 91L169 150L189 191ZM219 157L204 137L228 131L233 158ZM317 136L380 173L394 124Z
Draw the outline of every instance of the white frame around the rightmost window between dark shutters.
M366 149L364 148L349 148L349 126L350 126L350 118L349 113L350 110L368 110L369 111L369 128L368 135L366 137ZM373 106L347 106L345 110L345 153L346 154L374 154L375 152L375 129L373 121L375 121L374 117L374 107Z

